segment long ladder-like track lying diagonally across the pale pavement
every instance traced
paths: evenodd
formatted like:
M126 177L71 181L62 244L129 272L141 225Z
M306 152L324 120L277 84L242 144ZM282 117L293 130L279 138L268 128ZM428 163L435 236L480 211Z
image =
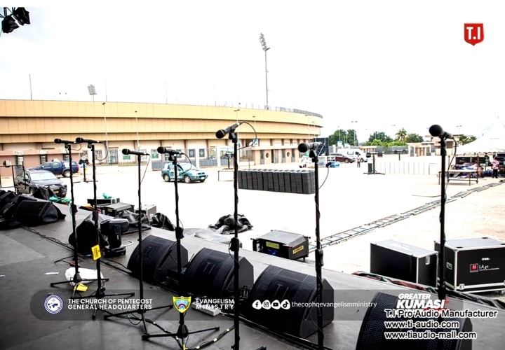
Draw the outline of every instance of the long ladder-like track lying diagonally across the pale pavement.
M457 200L459 198L464 198L467 195L470 195L471 193L487 190L487 188L491 188L491 187L498 186L501 184L502 184L501 182L488 183L485 186L480 186L478 188L472 188L471 190L466 190L466 191L457 193L456 195L453 195L452 197L447 198L447 200L445 200L445 203L447 204L450 202L454 202L455 200ZM368 232L372 232L374 230L377 230L377 228L384 228L385 226L391 225L392 223L397 223L398 221L402 221L402 220L405 220L406 218L410 218L410 216L415 216L417 214L424 213L424 211L429 211L431 209L435 209L436 207L440 206L440 202L441 202L440 200L429 202L429 203L422 205L421 207L417 207L415 209L410 209L409 211L405 211L402 214L395 214L395 215L391 215L391 216L386 216L385 218L379 219L377 221L373 221L372 223L361 225L361 226L358 226L357 228L351 228L350 230L346 230L344 232L339 232L339 233L336 233L335 235L323 237L323 238L321 238L321 248L324 248L325 246L332 246L333 244L342 243L343 241L347 241L351 238L365 235ZM317 247L316 247L315 242L311 242L309 244L309 253L315 251L316 248Z

